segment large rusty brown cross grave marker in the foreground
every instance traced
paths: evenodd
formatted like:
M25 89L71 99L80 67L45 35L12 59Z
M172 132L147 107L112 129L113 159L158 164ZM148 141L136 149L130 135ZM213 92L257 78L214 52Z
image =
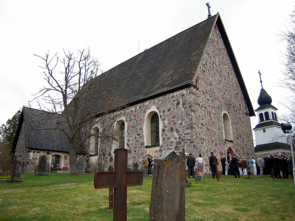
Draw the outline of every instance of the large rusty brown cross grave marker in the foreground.
M127 221L127 187L141 186L142 172L127 172L127 149L115 149L114 172L97 172L94 188L114 188L114 221Z

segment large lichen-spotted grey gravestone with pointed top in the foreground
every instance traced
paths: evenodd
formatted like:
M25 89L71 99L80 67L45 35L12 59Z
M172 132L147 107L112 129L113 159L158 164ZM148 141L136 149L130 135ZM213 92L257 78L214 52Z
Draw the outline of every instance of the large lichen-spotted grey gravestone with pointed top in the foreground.
M149 221L185 220L185 173L174 151L155 159Z

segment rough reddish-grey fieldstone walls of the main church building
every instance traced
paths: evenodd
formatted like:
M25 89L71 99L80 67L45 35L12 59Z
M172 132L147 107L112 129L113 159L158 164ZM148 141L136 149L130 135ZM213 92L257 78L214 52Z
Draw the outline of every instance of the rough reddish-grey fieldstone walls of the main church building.
M122 110L125 123L125 148L128 149L128 167L142 166L146 154L158 158L167 150L195 157L201 153L205 173L209 171L209 153L226 154L229 147L238 158L254 156L250 117L246 114L242 91L237 81L224 43L215 28L197 72L197 86L183 88L167 95L133 105ZM160 146L145 147L146 118L157 112L160 123ZM230 118L232 142L225 141L223 114ZM98 161L113 165L116 145L100 145Z

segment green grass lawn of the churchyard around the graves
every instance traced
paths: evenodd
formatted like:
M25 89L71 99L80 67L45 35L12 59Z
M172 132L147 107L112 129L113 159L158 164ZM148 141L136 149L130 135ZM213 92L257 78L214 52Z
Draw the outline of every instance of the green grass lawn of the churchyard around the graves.
M24 182L0 184L0 220L113 220L108 189L94 189L94 174L22 173ZM0 179L3 177L0 177ZM293 179L204 176L186 188L186 221L295 220ZM55 184L77 183L68 186ZM148 221L152 177L127 188L127 220Z

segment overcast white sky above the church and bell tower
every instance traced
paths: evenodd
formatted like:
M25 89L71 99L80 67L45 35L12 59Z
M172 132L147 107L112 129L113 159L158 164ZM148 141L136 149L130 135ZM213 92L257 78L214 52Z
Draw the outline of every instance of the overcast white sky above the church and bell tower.
M45 81L33 54L90 47L103 70L207 19L208 0L150 1L15 1L0 0L0 124L32 100ZM263 88L278 108L286 97L277 87L285 30L294 0L210 0L211 14L219 11L240 67L254 110ZM138 48L138 41L140 47ZM251 117L252 128L258 118Z

